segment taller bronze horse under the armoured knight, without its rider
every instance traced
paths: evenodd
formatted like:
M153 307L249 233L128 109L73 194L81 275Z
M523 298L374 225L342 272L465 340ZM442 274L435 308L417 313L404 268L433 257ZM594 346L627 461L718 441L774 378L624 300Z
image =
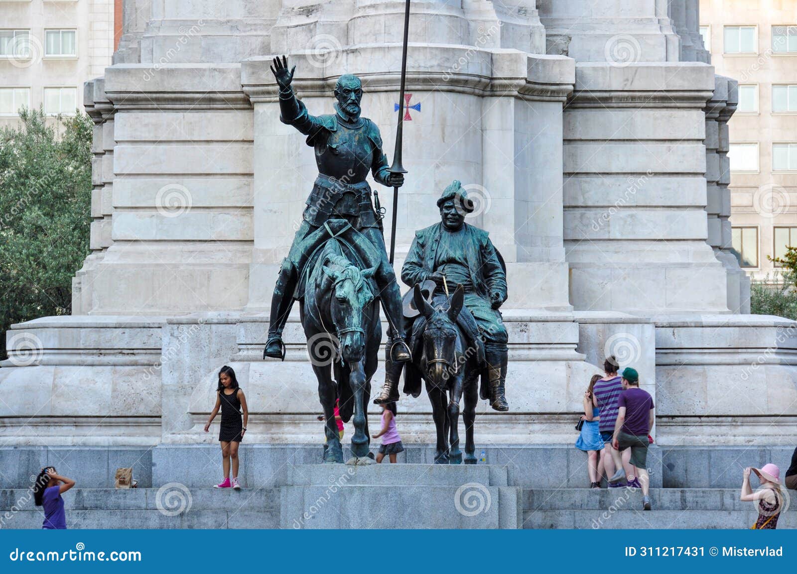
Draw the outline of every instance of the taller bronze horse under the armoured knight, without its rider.
M377 368L382 326L373 281L375 267L361 270L344 255L344 249L351 253L351 259L357 259L345 241L334 238L320 249L304 283L300 318L324 408L324 462L344 462L334 414L340 397L341 418L348 422L354 416L354 459L349 463L368 464L371 439L365 405Z

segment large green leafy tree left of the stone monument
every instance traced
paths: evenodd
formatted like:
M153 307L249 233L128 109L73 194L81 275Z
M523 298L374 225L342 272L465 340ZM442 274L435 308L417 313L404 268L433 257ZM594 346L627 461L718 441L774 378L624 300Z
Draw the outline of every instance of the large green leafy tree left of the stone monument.
M88 255L92 121L22 109L0 131L0 356L15 322L72 310Z

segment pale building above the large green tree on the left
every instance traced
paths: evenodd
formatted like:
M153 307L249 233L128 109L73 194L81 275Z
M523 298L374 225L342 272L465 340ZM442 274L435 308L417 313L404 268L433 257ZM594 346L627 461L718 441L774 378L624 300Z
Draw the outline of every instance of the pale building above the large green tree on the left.
M83 83L111 64L117 4L0 0L0 126L17 122L22 106L53 115L83 108Z

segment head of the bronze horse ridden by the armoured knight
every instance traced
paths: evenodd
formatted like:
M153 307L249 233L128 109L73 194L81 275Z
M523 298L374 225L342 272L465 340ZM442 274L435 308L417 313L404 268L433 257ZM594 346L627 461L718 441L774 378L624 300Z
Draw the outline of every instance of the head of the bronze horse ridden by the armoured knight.
M360 271L343 256L329 256L322 267L331 279L330 313L344 361L356 363L363 358L366 336L363 329L363 310L374 301L371 279L376 267Z

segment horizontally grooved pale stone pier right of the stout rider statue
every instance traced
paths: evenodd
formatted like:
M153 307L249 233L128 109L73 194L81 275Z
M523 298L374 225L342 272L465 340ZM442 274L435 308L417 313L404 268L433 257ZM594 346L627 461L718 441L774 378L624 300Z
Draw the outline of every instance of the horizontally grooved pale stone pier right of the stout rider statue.
M576 64L564 232L577 310L728 311L725 267L706 243L713 90L705 64Z

